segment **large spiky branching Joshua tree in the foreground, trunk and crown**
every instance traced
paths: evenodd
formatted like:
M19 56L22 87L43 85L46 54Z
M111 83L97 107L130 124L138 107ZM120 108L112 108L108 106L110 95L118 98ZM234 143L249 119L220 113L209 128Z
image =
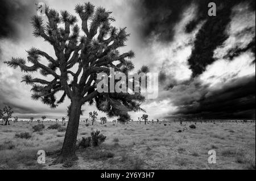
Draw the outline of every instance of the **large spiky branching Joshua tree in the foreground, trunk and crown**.
M131 111L143 111L141 104L145 100L140 92L134 92L135 89L131 90L132 92L97 91L97 73L109 75L109 68L113 68L115 73L128 75L134 69L133 63L129 60L134 57L134 52L121 54L117 50L125 46L129 33L126 32L126 28L118 30L111 26L111 22L114 21L110 16L112 12L102 7L95 8L87 2L76 5L75 11L81 19L82 32L76 24L76 16L67 11L61 11L59 14L56 10L46 7L47 23L40 16L32 17L34 36L42 37L51 44L56 57L43 50L31 48L27 51L27 61L32 64L31 66L26 65L23 58L12 58L5 62L12 68L19 67L26 73L40 71L47 77L46 80L33 78L30 74L23 76L22 82L32 85L32 99L41 100L51 108L63 103L66 97L71 100L67 131L56 163L75 157L82 105L96 103L97 109L109 117L119 116L124 120L129 119ZM45 65L44 61L41 61L42 58L46 58L49 64ZM148 71L147 66L143 66L138 72ZM117 81L119 80L115 80L114 84ZM135 86L135 82L138 81L133 79L131 83ZM128 85L126 88L128 89ZM62 93L60 99L57 99L57 93Z

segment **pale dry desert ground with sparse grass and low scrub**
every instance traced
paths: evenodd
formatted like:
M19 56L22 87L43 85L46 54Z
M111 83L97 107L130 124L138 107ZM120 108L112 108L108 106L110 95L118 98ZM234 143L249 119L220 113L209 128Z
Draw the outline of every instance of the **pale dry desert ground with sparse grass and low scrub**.
M94 130L106 136L98 147L78 149L72 164L52 165L65 132L45 128L33 132L35 122L0 125L0 169L255 169L255 123L80 123L77 140ZM61 124L61 123L60 123ZM187 130L177 132L179 129ZM18 138L28 132L31 137ZM38 150L46 163L37 162ZM216 151L216 164L208 151Z

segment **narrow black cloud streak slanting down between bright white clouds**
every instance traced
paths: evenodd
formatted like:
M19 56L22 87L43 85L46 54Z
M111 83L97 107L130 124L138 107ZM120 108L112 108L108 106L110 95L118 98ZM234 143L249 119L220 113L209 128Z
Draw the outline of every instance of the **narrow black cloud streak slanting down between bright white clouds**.
M216 2L217 15L207 16L207 21L196 35L195 45L188 59L193 77L203 73L207 65L216 61L213 57L214 50L228 39L226 27L230 23L233 7L239 2L241 1L218 1Z

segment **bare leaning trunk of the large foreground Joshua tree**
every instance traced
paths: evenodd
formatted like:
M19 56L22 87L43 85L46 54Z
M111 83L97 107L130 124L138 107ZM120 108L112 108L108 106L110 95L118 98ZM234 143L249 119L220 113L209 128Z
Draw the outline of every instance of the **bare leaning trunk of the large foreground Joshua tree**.
M80 112L82 104L80 100L72 100L69 112L67 131L61 153L55 163L63 163L67 159L76 159L76 139L79 128Z

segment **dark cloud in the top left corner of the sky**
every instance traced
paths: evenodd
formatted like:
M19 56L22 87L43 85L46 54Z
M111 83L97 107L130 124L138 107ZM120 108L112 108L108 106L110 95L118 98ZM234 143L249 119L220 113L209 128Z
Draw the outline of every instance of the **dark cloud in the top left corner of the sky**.
M28 19L35 12L35 1L1 0L0 1L0 39L19 36L18 25L26 26Z

